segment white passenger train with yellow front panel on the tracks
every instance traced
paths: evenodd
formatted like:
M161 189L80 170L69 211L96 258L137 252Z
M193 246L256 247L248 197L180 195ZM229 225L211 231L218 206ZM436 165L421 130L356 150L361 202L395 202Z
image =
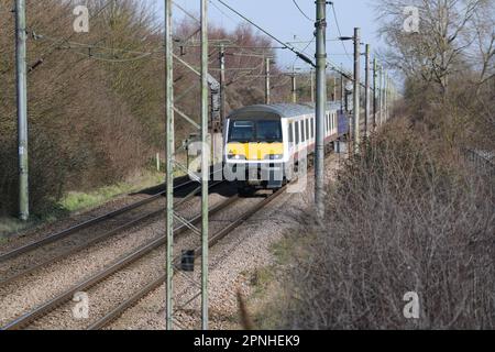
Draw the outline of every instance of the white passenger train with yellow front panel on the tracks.
M349 132L349 119L340 103L329 102L324 117L324 144ZM223 164L227 179L240 194L278 189L315 152L315 107L311 105L258 105L231 112L224 122Z

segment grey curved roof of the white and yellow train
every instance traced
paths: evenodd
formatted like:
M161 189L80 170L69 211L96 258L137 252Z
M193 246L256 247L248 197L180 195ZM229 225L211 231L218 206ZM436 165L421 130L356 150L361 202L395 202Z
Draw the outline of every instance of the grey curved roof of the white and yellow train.
M327 103L327 111L340 109L340 102L330 101ZM289 119L300 117L302 114L315 113L314 103L273 103L273 105L256 105L249 106L229 113L230 117L242 114L244 112L272 112L278 114L282 119Z

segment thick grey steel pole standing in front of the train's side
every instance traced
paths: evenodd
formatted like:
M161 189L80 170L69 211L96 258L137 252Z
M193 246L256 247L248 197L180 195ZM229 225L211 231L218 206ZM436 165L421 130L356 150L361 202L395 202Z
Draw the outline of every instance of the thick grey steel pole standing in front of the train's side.
M324 216L324 116L327 110L327 1L316 2L316 158L315 158L315 204L318 219Z

